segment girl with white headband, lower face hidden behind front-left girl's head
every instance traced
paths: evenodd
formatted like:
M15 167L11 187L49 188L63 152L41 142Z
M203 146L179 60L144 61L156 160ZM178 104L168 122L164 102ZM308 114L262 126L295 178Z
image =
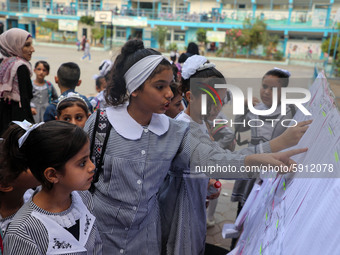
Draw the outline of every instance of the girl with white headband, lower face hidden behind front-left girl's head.
M66 96L60 96L57 104L57 120L67 121L84 128L89 116L89 108L79 94L69 92Z

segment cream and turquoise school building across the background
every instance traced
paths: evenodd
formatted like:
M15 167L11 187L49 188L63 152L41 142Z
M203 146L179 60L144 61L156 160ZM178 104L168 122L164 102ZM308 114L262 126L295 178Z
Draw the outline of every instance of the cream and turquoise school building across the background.
M80 22L95 15L93 26ZM166 26L166 45L184 49L196 41L197 29L225 32L242 28L246 18L264 20L270 34L279 36L285 56L304 58L309 52L321 59L322 41L338 33L340 0L0 0L2 27L26 29L39 41L75 42L97 27L112 31L106 44L122 45L132 36L157 47L152 30ZM46 21L58 28L41 26Z

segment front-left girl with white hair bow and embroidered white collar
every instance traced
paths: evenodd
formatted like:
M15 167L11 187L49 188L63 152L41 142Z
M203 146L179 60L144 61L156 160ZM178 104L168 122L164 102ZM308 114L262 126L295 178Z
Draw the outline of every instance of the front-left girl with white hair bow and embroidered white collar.
M101 254L91 196L75 191L86 191L94 173L86 133L64 121L15 123L8 130L15 158L42 187L15 215L4 253Z

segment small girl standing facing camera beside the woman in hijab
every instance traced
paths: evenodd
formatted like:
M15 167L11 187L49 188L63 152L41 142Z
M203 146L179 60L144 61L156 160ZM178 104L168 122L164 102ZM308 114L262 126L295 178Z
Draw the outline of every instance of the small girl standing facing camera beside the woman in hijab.
M50 73L50 65L46 61L38 61L34 66L36 75L33 81L33 99L31 101L31 110L35 122L41 122L44 119L46 107L58 98L58 93L52 83L45 80Z

